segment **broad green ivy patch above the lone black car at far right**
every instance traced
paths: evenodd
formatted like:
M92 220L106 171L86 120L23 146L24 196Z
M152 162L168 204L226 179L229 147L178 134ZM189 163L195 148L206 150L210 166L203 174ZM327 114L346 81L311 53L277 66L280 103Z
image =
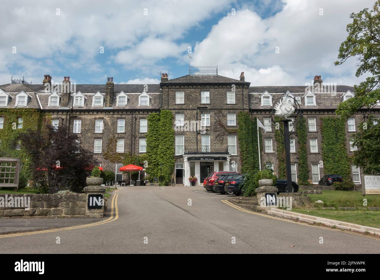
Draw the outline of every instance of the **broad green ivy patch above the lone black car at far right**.
M322 159L325 174L339 174L350 180L344 118L322 117Z

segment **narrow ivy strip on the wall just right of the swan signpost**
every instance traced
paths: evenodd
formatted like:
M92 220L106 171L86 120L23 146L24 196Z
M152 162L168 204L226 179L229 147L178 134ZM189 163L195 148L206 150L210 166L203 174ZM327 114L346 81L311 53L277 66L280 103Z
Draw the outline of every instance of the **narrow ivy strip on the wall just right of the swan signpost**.
M297 122L297 136L299 145L299 160L298 160L298 184L300 186L309 186L309 165L307 163L307 130L306 120L304 117L300 117Z

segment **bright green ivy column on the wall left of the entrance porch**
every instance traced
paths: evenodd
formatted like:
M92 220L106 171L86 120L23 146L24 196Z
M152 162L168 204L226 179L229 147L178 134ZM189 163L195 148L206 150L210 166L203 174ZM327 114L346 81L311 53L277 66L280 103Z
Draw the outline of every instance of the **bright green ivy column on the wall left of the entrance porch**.
M174 170L173 112L161 110L148 116L146 149L150 177L159 177L160 185L171 184ZM162 164L162 167L161 167Z

